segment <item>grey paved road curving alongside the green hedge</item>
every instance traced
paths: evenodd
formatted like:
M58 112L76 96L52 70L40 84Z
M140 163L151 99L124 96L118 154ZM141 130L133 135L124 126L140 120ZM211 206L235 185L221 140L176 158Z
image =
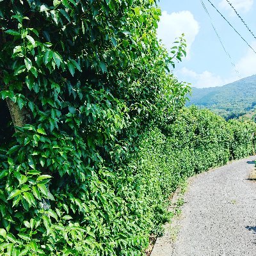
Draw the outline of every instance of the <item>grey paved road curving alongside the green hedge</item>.
M248 180L255 159L191 178L182 214L151 256L256 256L256 181Z

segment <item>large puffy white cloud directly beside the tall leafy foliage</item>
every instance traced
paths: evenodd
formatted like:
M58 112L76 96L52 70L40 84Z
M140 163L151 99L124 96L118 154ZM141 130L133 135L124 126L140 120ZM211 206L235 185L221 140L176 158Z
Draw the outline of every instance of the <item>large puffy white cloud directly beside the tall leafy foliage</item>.
M175 38L184 33L188 45L186 51L189 54L199 28L198 22L189 11L173 12L171 14L164 11L158 24L157 36L162 40L166 48L170 50Z

